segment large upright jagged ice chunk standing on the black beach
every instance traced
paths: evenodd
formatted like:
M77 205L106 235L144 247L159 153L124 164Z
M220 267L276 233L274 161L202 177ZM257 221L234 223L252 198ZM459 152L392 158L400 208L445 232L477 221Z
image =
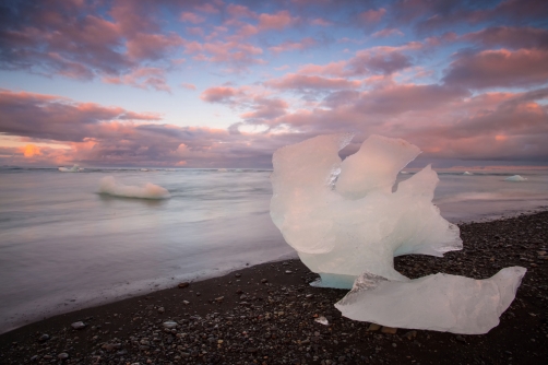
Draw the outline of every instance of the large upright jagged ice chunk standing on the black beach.
M458 227L432 204L438 175L430 166L398 184L420 150L400 139L369 137L344 162L352 134L320 136L273 156L271 216L319 286L350 289L365 270L408 281L393 257L443 256L462 249Z

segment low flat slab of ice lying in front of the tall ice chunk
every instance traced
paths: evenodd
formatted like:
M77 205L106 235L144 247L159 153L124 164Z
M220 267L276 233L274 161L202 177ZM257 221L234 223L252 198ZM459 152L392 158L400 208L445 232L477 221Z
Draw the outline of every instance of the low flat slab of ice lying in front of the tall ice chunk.
M499 325L525 272L511 267L485 280L437 273L409 282L364 273L335 307L382 326L481 334Z

